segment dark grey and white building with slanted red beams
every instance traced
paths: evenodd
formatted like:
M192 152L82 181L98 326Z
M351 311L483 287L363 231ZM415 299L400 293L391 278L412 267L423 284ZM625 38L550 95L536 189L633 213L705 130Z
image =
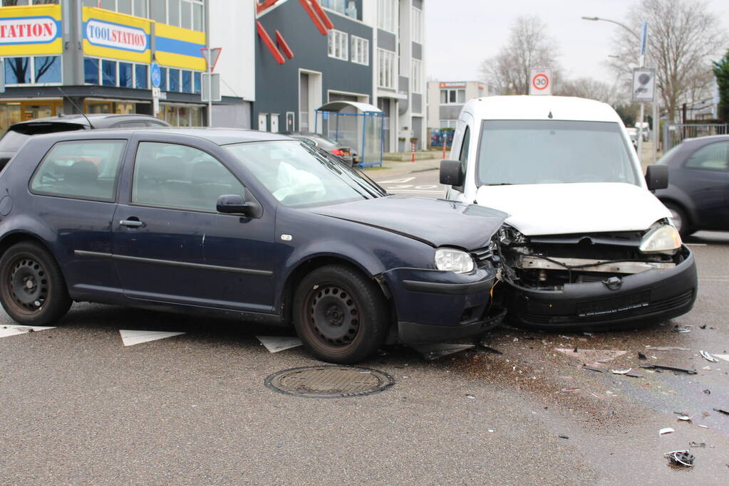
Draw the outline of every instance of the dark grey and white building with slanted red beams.
M384 151L410 150L411 139L424 146L424 0L261 4L255 127L320 131L317 108L351 101L385 114Z

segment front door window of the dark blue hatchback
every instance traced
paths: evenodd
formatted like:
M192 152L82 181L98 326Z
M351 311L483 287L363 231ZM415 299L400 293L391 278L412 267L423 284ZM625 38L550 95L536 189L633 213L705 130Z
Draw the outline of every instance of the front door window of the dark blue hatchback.
M217 159L173 143L141 142L133 177L136 204L215 211L219 196L243 196L243 185Z

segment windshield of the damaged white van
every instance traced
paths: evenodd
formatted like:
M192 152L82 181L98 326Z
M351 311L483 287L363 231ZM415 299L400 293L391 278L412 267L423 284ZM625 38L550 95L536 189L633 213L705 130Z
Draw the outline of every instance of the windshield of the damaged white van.
M615 122L486 120L478 150L479 186L628 183L639 185Z

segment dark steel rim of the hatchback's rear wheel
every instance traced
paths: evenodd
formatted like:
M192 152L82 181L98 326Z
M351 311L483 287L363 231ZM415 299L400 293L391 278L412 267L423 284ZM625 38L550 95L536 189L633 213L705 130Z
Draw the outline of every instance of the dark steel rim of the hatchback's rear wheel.
M48 274L32 257L16 258L7 276L7 293L15 308L26 314L42 311L48 300Z

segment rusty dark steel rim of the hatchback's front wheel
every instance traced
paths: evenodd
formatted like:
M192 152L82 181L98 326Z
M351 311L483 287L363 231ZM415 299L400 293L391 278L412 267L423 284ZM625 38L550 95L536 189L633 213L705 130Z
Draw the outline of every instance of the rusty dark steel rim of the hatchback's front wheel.
M309 290L304 306L306 327L324 346L347 348L359 335L359 306L344 287L315 285Z

